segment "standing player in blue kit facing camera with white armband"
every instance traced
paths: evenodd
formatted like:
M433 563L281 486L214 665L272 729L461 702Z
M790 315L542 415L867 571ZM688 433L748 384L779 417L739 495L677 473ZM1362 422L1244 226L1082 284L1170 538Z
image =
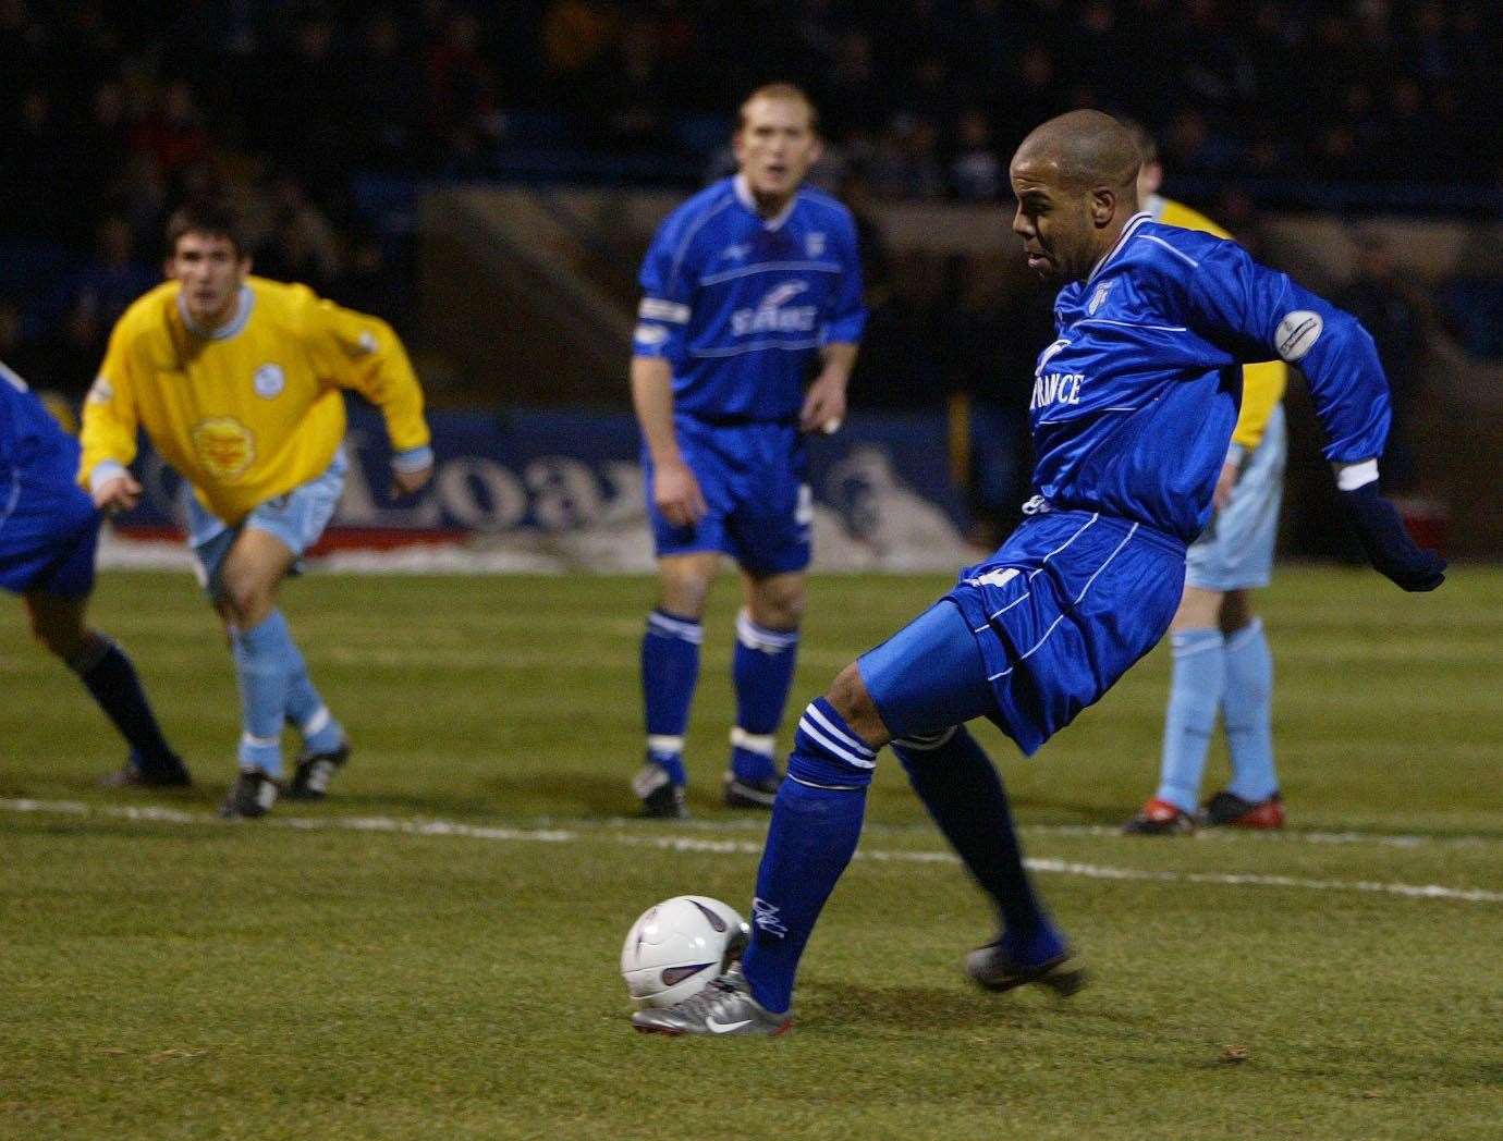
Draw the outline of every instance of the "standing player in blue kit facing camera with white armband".
M721 555L745 595L726 803L771 807L780 782L813 525L803 437L840 425L866 323L851 213L803 186L816 126L798 87L753 92L738 173L669 215L642 265L631 397L658 561L642 639L646 764L633 780L646 816L687 815L684 731Z

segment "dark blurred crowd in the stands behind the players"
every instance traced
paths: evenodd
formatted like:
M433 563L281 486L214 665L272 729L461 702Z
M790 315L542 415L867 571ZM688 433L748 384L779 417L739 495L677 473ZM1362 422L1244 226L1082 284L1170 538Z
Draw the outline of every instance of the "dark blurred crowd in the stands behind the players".
M0 0L0 355L86 385L165 212L204 189L240 200L260 272L400 320L410 272L356 174L693 180L771 77L809 87L831 176L876 200L1006 197L1016 140L1079 105L1148 123L1178 176L1495 188L1488 8Z

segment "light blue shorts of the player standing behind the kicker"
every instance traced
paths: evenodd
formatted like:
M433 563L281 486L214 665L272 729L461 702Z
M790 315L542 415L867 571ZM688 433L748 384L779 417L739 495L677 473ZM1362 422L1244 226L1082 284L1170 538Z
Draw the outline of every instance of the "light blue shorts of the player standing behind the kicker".
M1231 502L1211 516L1205 531L1190 544L1186 583L1202 591L1241 591L1269 585L1273 544L1279 535L1287 455L1284 406L1275 404L1263 440L1246 459L1241 475L1231 489Z

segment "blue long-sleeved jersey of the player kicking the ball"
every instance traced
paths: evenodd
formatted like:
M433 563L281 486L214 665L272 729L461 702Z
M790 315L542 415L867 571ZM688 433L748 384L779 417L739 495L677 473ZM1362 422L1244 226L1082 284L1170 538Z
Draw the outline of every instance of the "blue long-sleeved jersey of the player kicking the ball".
M1100 511L1195 540L1241 401L1241 365L1297 364L1326 457L1377 457L1389 389L1351 314L1246 250L1135 215L1085 281L1060 290L1030 419L1034 486L1055 508Z

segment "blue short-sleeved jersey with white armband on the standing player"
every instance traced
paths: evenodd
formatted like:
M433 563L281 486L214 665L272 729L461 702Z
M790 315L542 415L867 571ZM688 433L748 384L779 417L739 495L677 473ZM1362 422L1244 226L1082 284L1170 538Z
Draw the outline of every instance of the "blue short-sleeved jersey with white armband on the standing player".
M866 325L851 212L803 188L758 215L738 177L667 216L642 263L633 353L673 370L673 410L700 419L789 421L821 346Z

